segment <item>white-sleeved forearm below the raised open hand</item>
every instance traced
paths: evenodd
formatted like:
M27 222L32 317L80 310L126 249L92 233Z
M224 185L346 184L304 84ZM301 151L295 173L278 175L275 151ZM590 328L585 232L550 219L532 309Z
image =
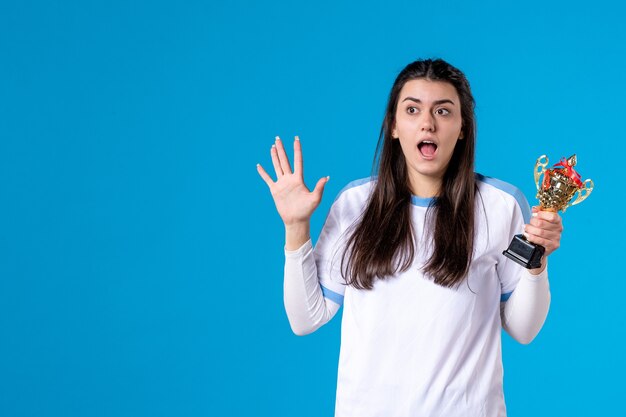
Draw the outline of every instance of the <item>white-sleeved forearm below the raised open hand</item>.
M314 332L339 310L324 298L310 239L296 250L285 246L284 302L291 329L299 336Z

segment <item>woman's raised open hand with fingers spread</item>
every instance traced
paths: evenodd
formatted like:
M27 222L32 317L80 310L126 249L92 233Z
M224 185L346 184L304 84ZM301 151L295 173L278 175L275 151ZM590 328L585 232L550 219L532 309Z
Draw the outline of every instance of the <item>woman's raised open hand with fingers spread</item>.
M313 191L309 191L304 184L302 147L298 136L293 143L293 172L283 143L278 136L276 136L276 142L272 145L270 153L276 171L276 181L272 181L272 178L260 164L257 164L257 171L272 193L278 214L286 227L308 225L311 215L322 201L324 186L330 177L320 178Z

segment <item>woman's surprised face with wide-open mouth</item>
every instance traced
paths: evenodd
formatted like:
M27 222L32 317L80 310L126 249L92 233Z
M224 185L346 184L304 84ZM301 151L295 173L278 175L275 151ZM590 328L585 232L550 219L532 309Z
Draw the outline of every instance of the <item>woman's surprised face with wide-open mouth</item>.
M444 81L407 81L400 91L392 137L400 140L411 188L440 184L456 142L461 140L461 103Z

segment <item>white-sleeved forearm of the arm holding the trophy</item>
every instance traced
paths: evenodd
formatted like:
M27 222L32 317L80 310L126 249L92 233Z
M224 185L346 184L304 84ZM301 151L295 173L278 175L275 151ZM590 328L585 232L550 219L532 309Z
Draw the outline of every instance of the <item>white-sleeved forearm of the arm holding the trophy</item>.
M501 305L502 326L520 343L530 343L539 333L550 309L548 272L522 273L515 291Z

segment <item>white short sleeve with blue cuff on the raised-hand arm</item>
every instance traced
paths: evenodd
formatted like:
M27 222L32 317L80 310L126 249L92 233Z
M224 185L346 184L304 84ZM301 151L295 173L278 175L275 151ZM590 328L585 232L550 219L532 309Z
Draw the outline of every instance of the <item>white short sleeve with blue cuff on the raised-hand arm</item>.
M324 297L343 304L346 281L341 275L341 261L345 251L345 227L342 223L342 199L330 208L319 239L315 245L315 263Z

